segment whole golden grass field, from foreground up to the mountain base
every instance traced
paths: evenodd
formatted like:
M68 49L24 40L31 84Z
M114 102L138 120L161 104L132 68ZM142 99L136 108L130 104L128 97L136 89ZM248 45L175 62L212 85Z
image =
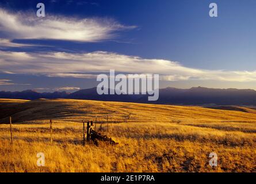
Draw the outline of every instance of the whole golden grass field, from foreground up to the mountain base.
M82 144L82 119L95 116L96 131L102 122L118 145ZM38 152L45 154L44 167L37 166ZM217 167L209 166L211 152L218 155ZM0 99L0 155L0 172L255 172L256 110Z

